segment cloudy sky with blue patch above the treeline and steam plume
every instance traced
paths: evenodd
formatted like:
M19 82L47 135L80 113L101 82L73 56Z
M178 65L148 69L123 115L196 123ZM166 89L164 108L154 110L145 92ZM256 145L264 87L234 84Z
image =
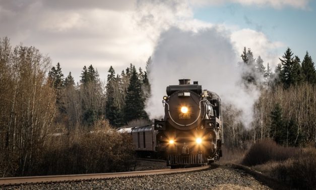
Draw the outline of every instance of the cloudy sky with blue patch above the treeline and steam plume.
M316 59L315 1L308 0L0 0L0 37L12 46L35 46L80 80L92 64L101 80L112 65L145 69L161 34L170 28L199 31L218 27L234 46L275 67L287 47L301 60Z

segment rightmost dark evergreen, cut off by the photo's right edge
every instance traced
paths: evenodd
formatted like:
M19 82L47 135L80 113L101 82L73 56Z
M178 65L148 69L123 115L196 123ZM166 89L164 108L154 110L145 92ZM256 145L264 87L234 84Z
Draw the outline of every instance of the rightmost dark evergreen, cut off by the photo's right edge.
M308 52L306 52L306 55L302 61L302 71L304 73L305 81L311 84L316 84L316 70Z

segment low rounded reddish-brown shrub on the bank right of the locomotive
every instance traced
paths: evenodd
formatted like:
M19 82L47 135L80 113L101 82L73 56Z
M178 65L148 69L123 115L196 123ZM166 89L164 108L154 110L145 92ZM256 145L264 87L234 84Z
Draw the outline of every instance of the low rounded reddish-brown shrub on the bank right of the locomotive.
M297 148L282 147L273 140L262 140L252 145L242 160L242 164L254 166L268 161L283 161L297 155Z

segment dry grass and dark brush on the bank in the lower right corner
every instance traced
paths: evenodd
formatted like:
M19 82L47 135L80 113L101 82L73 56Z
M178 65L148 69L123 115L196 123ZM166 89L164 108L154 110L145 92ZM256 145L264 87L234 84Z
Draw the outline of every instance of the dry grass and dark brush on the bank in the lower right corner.
M316 189L316 149L286 148L264 140L253 145L242 164L298 189Z

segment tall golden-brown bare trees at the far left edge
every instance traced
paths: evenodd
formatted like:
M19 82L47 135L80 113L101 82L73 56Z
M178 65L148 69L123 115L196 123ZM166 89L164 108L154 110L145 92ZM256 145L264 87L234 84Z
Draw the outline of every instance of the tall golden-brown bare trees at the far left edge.
M50 60L34 47L12 51L8 38L0 47L0 175L23 175L32 172L56 113L45 78Z

